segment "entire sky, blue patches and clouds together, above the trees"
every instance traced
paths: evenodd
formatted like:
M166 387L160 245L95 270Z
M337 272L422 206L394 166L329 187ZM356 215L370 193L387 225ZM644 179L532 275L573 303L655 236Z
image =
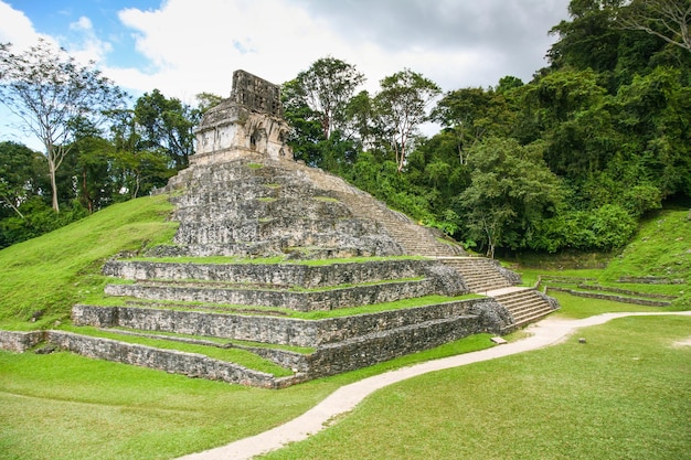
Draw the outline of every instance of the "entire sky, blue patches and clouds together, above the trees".
M548 65L568 0L0 0L0 42L44 38L134 98L227 97L242 68L281 84L320 57L342 60L375 93L410 68L444 92L529 82ZM0 141L30 145L0 111Z

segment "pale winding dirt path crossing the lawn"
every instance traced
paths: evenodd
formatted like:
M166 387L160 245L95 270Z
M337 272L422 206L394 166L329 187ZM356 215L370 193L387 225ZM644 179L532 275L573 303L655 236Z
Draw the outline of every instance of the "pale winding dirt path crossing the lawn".
M605 313L583 320L545 319L525 329L531 335L504 345L466 353L426 363L415 364L346 385L301 416L259 435L240 439L230 445L181 457L180 460L247 460L261 453L279 449L289 442L301 441L327 428L333 417L352 410L371 393L396 382L428 372L440 371L497 357L509 356L563 342L580 328L603 324L616 318L635 315L683 314L691 311L659 313Z

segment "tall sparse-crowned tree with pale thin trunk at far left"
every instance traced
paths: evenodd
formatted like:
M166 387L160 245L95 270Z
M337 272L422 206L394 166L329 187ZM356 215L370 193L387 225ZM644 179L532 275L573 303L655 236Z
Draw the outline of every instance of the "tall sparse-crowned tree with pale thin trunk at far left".
M71 121L105 121L105 111L119 107L125 93L94 68L78 64L65 50L40 40L21 54L0 44L0 98L45 149L53 194L60 211L55 174L74 146Z

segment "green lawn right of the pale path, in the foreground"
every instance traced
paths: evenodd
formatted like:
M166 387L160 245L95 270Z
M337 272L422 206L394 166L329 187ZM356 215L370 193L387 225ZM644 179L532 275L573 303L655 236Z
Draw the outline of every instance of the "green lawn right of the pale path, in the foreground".
M691 459L691 346L672 346L690 331L691 318L621 319L408 379L262 458Z

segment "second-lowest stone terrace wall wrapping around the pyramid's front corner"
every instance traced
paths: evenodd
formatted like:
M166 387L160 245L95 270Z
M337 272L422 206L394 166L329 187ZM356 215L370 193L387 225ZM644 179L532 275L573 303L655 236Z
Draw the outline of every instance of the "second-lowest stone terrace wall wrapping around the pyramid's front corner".
M497 312L504 311L504 315ZM134 307L96 307L77 304L72 309L76 325L130 328L180 334L217 336L281 345L318 347L371 333L415 325L427 321L472 312L481 319L483 331L497 332L506 324L503 307L492 299L471 299L417 307L307 321L290 318L204 313L198 311L146 309Z

